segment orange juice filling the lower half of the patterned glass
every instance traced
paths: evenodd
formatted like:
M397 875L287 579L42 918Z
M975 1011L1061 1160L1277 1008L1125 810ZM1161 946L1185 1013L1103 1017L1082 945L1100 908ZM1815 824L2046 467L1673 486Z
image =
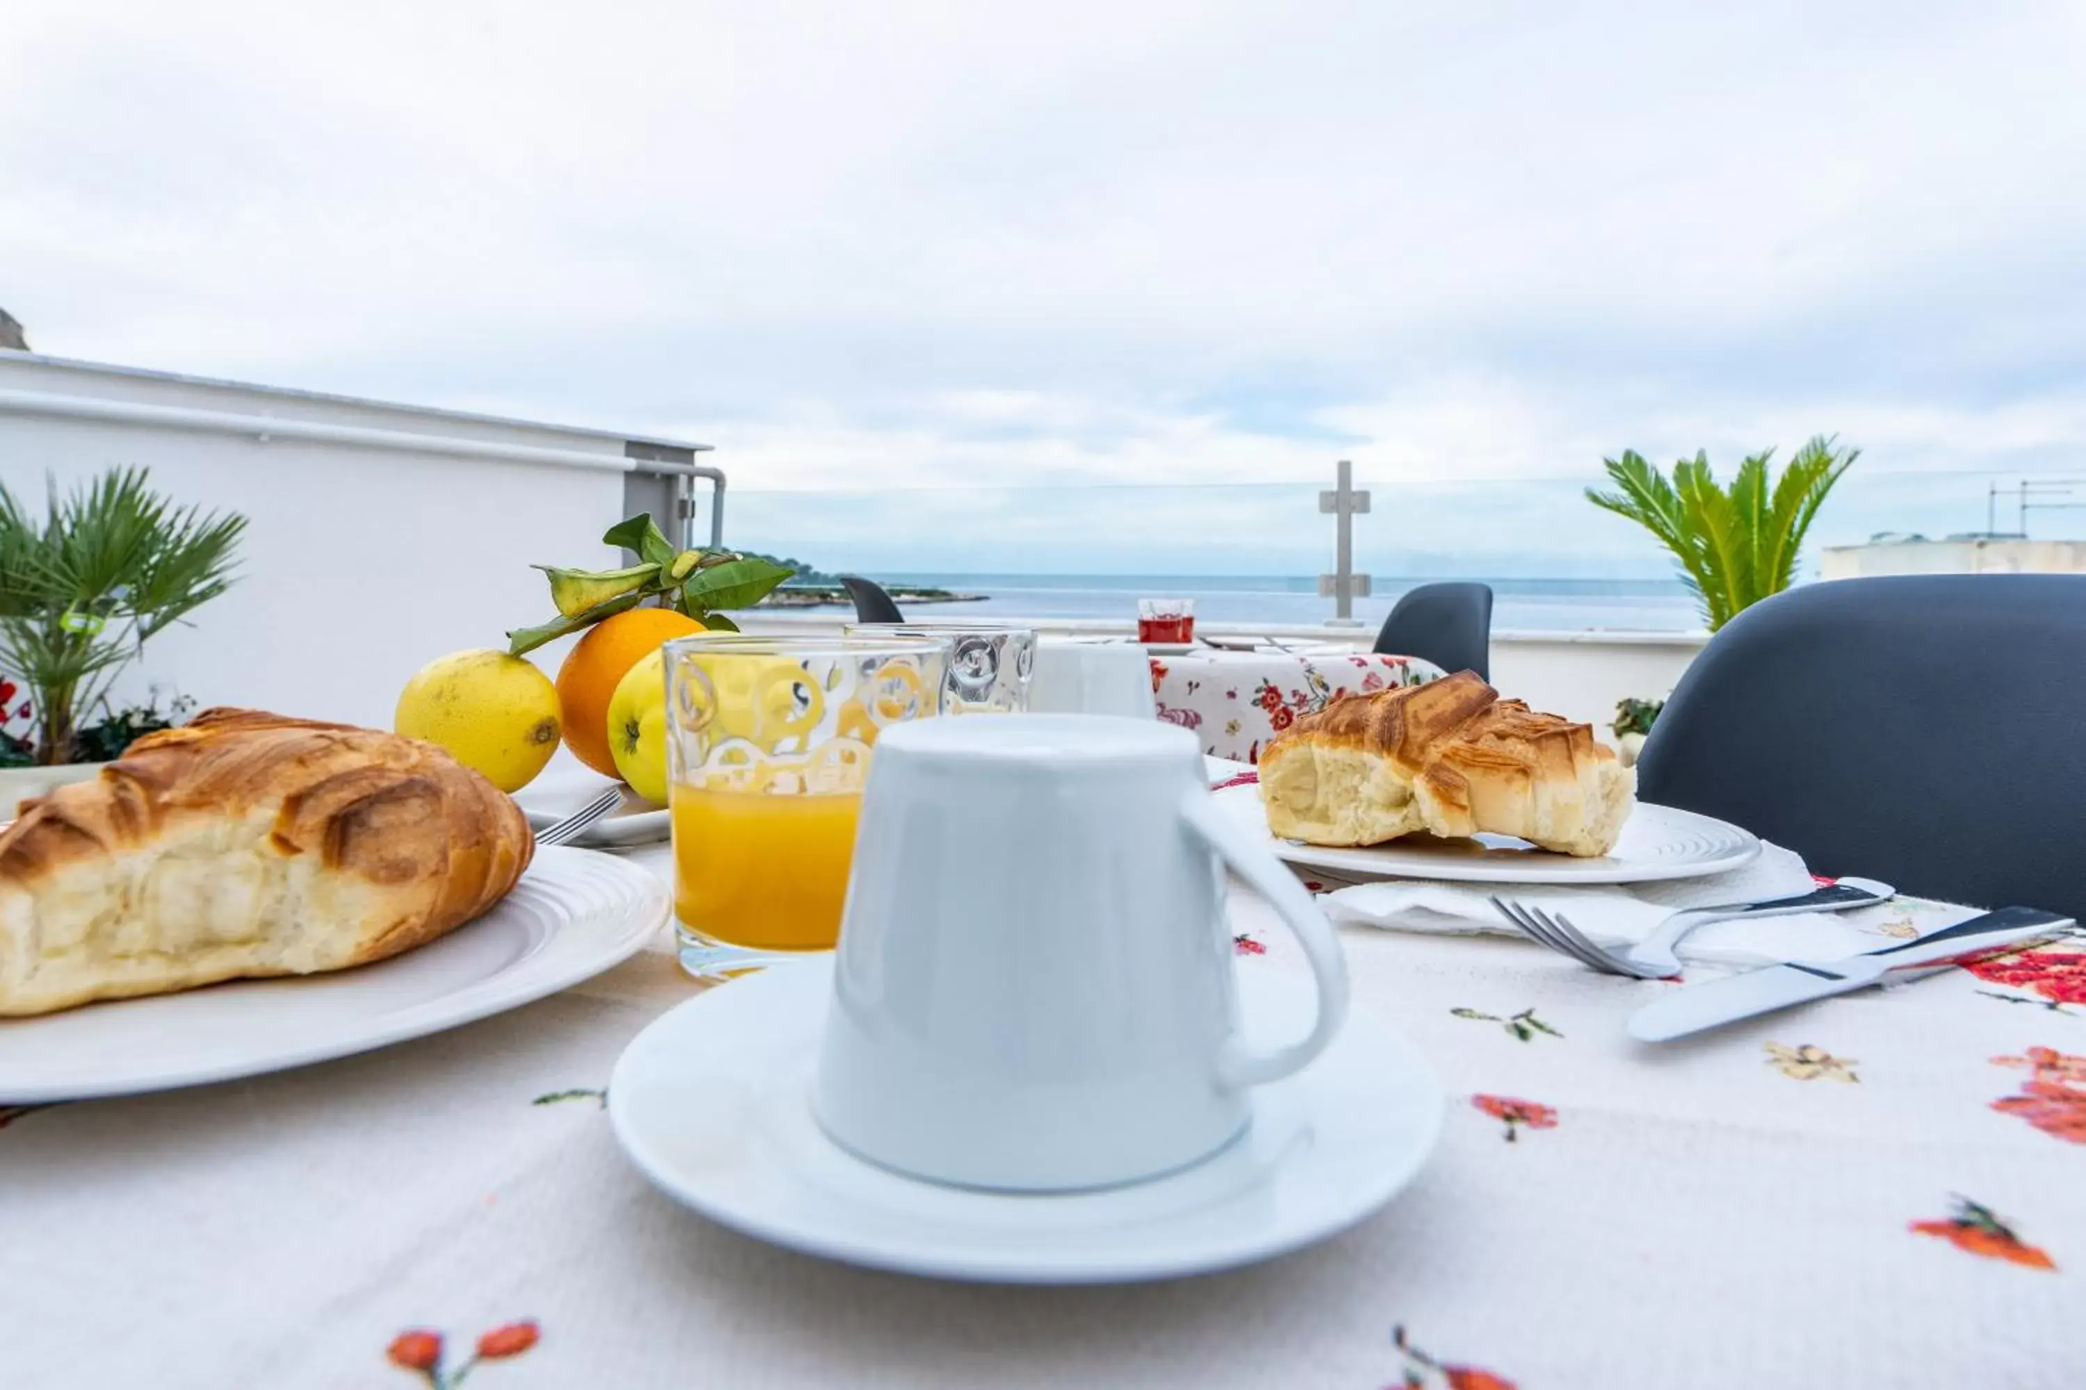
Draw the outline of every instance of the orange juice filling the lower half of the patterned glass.
M674 911L709 940L832 950L859 792L774 796L674 788Z

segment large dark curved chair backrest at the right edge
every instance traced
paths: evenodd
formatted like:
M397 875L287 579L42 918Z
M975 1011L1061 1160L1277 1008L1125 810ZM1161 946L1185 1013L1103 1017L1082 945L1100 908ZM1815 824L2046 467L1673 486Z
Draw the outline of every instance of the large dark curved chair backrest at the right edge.
M1834 579L1740 613L1652 727L1638 794L1813 873L2086 919L2086 575Z

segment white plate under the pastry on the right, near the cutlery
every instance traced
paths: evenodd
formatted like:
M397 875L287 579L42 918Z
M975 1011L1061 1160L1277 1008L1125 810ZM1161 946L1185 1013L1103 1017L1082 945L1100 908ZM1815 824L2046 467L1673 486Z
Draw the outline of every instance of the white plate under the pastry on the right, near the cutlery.
M1266 813L1258 786L1218 792L1224 806L1260 825ZM1302 844L1268 836L1270 848L1293 865L1333 869L1350 877L1418 877L1466 884L1654 884L1723 873L1761 852L1758 836L1677 806L1638 802L1623 821L1615 850L1600 859L1573 859L1539 850L1510 836L1475 840L1404 838L1366 848Z

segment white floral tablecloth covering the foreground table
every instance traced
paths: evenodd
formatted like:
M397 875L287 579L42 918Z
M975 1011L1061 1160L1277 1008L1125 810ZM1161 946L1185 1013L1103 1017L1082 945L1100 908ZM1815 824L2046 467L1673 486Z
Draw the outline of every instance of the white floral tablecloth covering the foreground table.
M1302 973L1256 900L1233 932L1239 969ZM1648 1048L1623 1019L1671 984L1504 938L1343 942L1354 1009L1421 1046L1450 1113L1385 1211L1287 1259L985 1288L695 1217L603 1113L617 1052L693 988L661 936L382 1052L0 1109L0 1386L2086 1384L2076 946Z

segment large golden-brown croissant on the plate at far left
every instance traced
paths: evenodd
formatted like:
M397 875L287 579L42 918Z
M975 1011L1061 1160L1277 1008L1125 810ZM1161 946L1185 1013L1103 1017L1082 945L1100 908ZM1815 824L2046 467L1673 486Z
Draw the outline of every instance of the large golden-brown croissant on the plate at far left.
M0 831L0 1015L382 961L532 852L522 809L434 744L211 709Z

